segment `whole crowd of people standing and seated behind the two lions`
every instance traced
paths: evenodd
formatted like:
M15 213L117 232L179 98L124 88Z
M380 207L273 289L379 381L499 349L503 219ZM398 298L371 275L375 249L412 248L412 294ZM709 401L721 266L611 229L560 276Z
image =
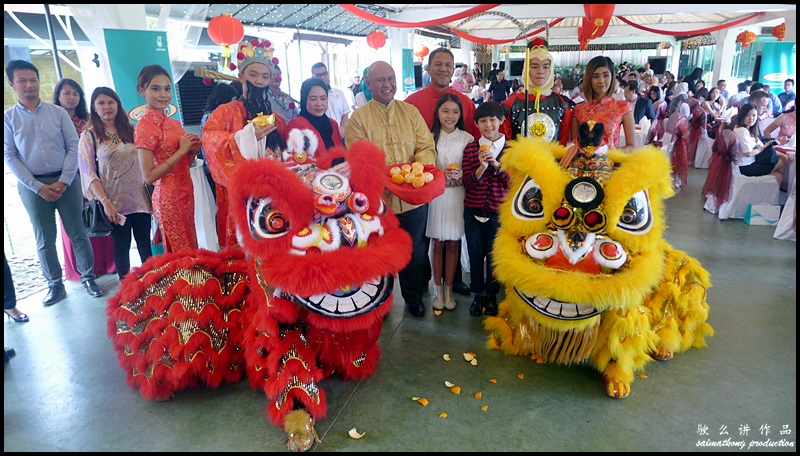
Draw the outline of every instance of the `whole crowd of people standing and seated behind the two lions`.
M656 77L648 64L615 66L601 55L575 65L575 88L567 93L540 37L528 43L522 81L506 79L497 63L484 77L481 65L457 67L451 50L434 49L423 65L422 88L405 100L396 99L395 69L384 61L364 68L344 89L331 86L325 63L315 63L295 100L280 88L281 69L269 45L244 41L239 50L239 88L217 83L201 135L187 133L165 113L174 83L159 65L139 73L137 90L146 108L134 126L113 89L96 88L87 106L80 85L64 79L48 103L39 97L38 69L26 61L8 63L6 73L18 103L5 112L5 158L19 180L48 281L45 306L66 294L55 245L56 212L65 258L72 258L72 269L88 294L103 296L96 274L111 271L98 265L98 257L110 253L113 271L123 278L130 271L132 238L142 262L152 256L153 218L165 252L198 248L190 176L196 157L204 160L215 192L219 248L236 248L228 187L231 170L244 160L241 149L258 144L264 156L287 160L296 130L312 132L317 154L366 139L385 151L387 165L420 162L442 170L445 191L430 203L414 205L394 196L387 200L414 244L399 281L408 311L416 317L425 315L423 295L431 279L434 310L455 309L453 293L459 293L473 295L470 315L497 314L500 285L493 277L491 251L498 206L509 187L501 162L508 141L519 135L567 146L581 123L595 121L605 126L605 144L619 147L624 139L622 149L630 150L635 125L642 119L667 122L675 112L688 116L685 105L694 98L707 115L712 137L718 128L730 126L723 119L726 110L739 110L731 128L739 139L745 175L781 174L789 158L771 145L785 144L794 135L792 79L778 95L749 82L728 94L724 80L707 86L701 68L682 78L669 72ZM274 115L274 121L263 126L251 122L260 115ZM759 122L767 118L761 127ZM778 129L776 140L764 138ZM293 159L299 160L298 155ZM569 160L568 153L562 166ZM154 186L152 196L145 183ZM92 199L102 203L114 225L108 238L90 239L83 227L81 208ZM463 248L469 257L469 286L463 280ZM29 320L8 305L6 314L17 322Z

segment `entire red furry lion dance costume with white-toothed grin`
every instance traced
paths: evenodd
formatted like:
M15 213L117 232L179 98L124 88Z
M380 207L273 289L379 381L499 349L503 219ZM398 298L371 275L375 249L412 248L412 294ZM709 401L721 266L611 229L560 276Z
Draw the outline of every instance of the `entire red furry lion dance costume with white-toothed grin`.
M375 371L393 277L411 257L382 199L384 167L366 141L316 163L239 166L230 216L242 250L153 257L109 299L108 334L128 383L166 400L246 372L289 449L309 449L327 412L319 382Z

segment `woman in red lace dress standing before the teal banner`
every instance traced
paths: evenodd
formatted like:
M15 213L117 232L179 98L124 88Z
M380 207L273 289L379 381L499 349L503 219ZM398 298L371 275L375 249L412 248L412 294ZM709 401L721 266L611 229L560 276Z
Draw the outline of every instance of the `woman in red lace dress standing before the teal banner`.
M186 133L166 114L172 100L172 79L160 65L139 72L137 89L147 107L136 125L134 143L142 176L155 184L153 212L164 239L164 252L197 250L194 186L189 168L200 150L200 137Z

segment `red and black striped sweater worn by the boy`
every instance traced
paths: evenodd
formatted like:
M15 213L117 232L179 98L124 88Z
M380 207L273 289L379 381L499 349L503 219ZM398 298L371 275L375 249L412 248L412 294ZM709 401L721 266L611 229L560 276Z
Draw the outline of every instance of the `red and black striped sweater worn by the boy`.
M499 153L495 155L497 161L502 161L506 138L501 136L495 142L481 138L478 141L471 142L464 149L464 159L461 166L464 189L466 190L464 207L475 209L481 214L496 214L500 203L503 202L506 193L508 193L510 178L507 172L496 169L492 165L486 168L480 179L475 177L475 171L481 165L480 160L478 160L478 151L481 144L491 145L496 150L499 150Z

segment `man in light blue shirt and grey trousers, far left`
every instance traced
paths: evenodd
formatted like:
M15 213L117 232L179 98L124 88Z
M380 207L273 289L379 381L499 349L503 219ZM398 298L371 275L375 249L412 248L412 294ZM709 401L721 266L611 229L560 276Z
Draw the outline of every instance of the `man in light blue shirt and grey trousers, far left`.
M50 287L43 304L53 305L67 293L56 250L56 210L72 240L83 286L90 296L103 296L94 280L94 252L81 219L75 125L64 108L41 100L39 70L32 63L12 60L6 75L17 104L4 113L3 153L19 181L17 191L31 219L39 263Z

